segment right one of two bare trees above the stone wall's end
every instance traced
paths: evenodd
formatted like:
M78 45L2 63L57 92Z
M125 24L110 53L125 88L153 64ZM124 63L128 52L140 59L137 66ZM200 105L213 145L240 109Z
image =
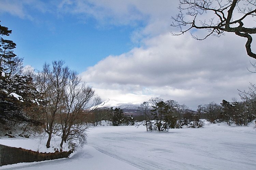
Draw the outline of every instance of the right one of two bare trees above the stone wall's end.
M96 97L93 100L93 97ZM79 145L83 145L86 137L86 130L89 125L86 124L86 114L91 113L92 109L100 103L100 98L95 95L92 87L82 82L78 73L69 72L67 85L63 95L65 100L64 108L60 112L59 119L61 125L61 143L76 140ZM90 103L93 100L93 103ZM77 145L77 142L73 142Z

